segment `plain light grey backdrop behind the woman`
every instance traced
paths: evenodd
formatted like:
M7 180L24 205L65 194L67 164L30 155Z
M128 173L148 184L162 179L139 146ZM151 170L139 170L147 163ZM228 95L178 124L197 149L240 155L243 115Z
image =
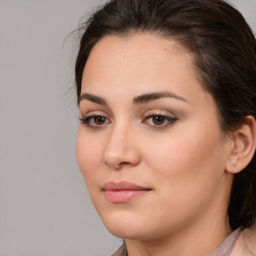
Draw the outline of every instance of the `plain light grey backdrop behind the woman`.
M255 31L256 0L232 2ZM74 46L62 45L97 3L0 0L0 256L107 256L121 243L76 164Z

